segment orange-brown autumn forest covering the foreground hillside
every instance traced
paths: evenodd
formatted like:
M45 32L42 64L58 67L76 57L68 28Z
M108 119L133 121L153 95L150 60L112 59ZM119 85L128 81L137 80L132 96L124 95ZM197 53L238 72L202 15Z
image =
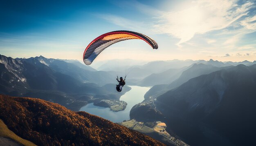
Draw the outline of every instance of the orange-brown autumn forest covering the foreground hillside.
M0 119L37 145L164 145L101 117L35 98L0 95Z

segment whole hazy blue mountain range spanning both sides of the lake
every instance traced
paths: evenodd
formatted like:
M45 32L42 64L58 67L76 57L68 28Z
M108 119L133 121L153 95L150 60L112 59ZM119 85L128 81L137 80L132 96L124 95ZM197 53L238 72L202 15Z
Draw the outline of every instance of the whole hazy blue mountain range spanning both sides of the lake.
M126 85L152 88L131 109L130 118L165 122L168 133L191 145L254 144L256 61L140 63L126 63ZM79 111L90 102L119 100L130 90L115 91L122 66L107 66L97 71L77 60L0 55L0 94L40 98Z

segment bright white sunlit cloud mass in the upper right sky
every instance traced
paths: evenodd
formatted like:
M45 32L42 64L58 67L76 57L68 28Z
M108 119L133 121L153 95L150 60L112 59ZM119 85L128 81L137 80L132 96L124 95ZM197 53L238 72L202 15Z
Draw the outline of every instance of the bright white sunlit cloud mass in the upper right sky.
M154 27L157 33L167 33L180 38L177 43L180 45L193 38L196 33L229 27L247 15L247 11L253 4L247 2L238 6L236 0L196 0L184 4L184 8L178 11L163 13ZM252 27L247 23L243 24Z

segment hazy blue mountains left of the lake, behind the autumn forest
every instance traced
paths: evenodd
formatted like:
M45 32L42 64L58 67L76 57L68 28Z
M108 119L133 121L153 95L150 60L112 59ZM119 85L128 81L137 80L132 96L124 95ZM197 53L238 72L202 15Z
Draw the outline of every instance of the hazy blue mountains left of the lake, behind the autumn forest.
M78 111L97 98L119 100L115 75L96 71L80 62L65 62L43 56L21 59L0 55L0 94L36 97ZM108 84L108 86L105 86Z

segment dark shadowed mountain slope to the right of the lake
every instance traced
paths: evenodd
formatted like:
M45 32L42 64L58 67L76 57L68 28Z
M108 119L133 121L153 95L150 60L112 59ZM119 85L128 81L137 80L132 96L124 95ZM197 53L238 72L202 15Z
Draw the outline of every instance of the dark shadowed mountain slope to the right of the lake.
M155 109L150 116L165 121L169 125L167 131L191 145L253 145L256 64L211 69L211 73L192 77L180 86L158 93L153 104L145 95L146 100L134 106L130 116L148 120L147 111ZM141 105L149 106L148 110L143 111Z

